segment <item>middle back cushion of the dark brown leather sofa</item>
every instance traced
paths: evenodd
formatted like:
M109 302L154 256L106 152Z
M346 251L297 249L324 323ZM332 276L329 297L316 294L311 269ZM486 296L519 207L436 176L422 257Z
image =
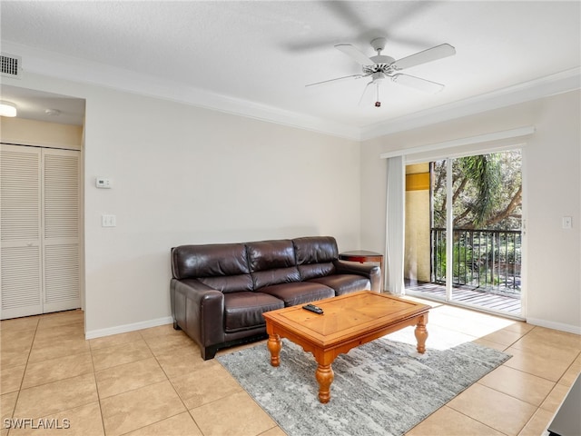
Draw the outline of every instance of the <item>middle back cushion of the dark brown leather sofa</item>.
M300 281L291 240L246 243L246 250L254 290Z

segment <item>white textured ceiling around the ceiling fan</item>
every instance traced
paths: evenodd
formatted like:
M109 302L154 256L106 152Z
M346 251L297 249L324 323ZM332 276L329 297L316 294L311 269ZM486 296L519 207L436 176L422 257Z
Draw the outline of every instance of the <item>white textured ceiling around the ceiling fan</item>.
M157 94L172 99L182 94L189 103L231 112L244 112L240 108L246 105L263 118L269 113L279 120L309 118L321 120L330 130L346 126L356 131L552 74L575 69L578 74L580 5L3 0L0 11L2 50L6 46L21 52L15 54L24 53L25 70L27 64L31 70L41 68L42 63L31 58L29 49L34 47L34 54L59 54L61 64L74 65L67 78L77 74L77 80L123 87L123 77L133 74L135 86L151 80L160 90ZM442 43L455 46L455 56L405 71L446 88L424 94L388 82L381 87L382 105L376 108L359 106L368 78L305 87L360 73L359 64L333 45L356 45L370 56L374 52L369 42L378 36L388 39L382 54L395 59ZM95 65L103 72L114 69L99 76ZM143 92L155 94L145 87Z

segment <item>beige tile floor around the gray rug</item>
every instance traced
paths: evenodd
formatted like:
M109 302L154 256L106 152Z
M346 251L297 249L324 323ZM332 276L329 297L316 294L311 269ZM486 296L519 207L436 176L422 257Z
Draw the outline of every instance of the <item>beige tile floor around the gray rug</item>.
M514 357L409 436L547 434L581 372L581 336L429 304L430 335ZM202 361L183 332L163 325L85 341L83 316L60 312L0 323L0 436L284 435L220 363ZM17 418L70 428L5 428L6 419Z

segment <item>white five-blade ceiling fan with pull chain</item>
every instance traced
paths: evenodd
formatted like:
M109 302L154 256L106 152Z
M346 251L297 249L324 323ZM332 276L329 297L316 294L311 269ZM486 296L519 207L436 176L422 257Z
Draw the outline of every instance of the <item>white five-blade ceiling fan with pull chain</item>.
M307 84L307 86L315 86L318 84L328 84L330 82L336 82L339 80L355 78L359 79L361 77L371 77L371 82L365 86L363 94L359 99L359 104L361 104L366 97L369 95L369 89L375 90L375 106L380 107L381 102L379 101L379 84L383 83L386 79L391 79L397 84L404 84L412 88L419 89L428 93L438 93L444 89L443 84L438 84L436 82L431 82L426 79L421 79L414 75L401 74L400 70L410 68L419 64L426 64L428 62L436 61L443 57L448 57L456 54L456 49L449 44L436 45L435 47L428 48L422 52L416 54L410 54L409 56L403 57L399 60L395 60L393 57L381 54L385 48L386 38L375 38L371 41L371 46L378 52L377 55L369 57L367 54L363 54L353 45L350 44L339 44L335 45L335 48L350 56L358 64L362 65L361 74L351 74L344 77L338 77L336 79L324 80L322 82L316 82L314 84Z

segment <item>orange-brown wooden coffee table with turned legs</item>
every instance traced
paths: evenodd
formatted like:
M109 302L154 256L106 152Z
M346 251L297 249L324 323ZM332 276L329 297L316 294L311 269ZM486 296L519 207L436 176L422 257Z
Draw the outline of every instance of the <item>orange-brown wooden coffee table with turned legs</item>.
M430 306L409 302L384 293L362 291L313 302L324 313L309 312L302 304L263 313L271 365L279 366L281 338L311 352L319 364L319 401L329 402L334 374L331 363L341 353L373 341L390 332L416 325L418 352L426 351L428 311Z

